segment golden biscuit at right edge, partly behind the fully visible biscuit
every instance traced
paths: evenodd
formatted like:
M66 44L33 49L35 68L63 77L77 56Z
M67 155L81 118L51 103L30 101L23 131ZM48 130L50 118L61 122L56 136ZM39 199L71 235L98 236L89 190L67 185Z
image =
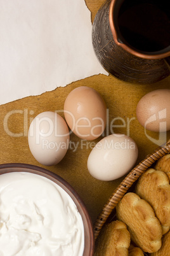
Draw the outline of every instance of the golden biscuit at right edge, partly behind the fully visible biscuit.
M153 168L143 173L136 185L136 194L154 209L162 225L162 234L170 228L170 185L167 174Z

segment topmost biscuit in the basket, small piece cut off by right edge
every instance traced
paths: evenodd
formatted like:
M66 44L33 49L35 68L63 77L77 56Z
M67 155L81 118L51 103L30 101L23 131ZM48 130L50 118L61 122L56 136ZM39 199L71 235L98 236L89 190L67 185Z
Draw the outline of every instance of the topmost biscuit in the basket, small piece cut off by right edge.
M154 168L158 171L164 171L170 180L170 153L161 157L155 164Z

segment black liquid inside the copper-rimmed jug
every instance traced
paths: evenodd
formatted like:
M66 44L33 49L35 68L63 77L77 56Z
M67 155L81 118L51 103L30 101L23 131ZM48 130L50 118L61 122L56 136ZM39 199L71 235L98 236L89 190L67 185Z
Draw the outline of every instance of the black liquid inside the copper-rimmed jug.
M170 45L169 0L125 0L119 10L121 41L141 52Z

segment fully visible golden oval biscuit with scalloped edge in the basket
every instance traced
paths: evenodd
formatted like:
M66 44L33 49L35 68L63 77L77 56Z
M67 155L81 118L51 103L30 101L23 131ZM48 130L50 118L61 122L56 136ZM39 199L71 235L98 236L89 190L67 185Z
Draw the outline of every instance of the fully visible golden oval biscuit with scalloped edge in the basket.
M153 208L137 194L129 192L116 206L117 218L131 234L131 240L143 252L156 252L161 246L162 227Z

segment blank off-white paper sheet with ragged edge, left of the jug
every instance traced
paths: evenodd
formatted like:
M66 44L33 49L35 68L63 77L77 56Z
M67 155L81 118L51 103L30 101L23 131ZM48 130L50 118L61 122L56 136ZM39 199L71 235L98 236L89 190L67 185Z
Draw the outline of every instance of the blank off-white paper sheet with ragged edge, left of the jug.
M0 104L99 73L84 0L0 0Z

